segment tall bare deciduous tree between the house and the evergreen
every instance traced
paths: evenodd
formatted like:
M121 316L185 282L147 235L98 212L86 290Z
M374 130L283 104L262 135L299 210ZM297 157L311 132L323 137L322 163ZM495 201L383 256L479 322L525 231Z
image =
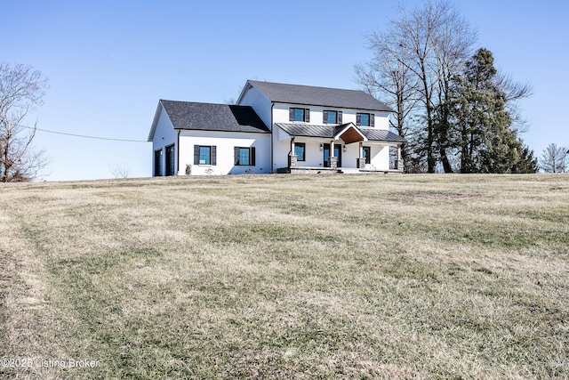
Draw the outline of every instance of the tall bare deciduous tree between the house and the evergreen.
M476 39L476 30L452 4L427 0L410 12L400 7L399 18L390 21L386 32L369 35L367 42L374 59L367 67L356 67L357 82L368 91L373 88L395 98L391 104L398 106L401 98L397 93L406 88L405 107L398 108L397 113L422 121L413 128L413 136L404 137L413 140L415 160L425 161L429 173L434 173L437 158L445 171L451 171L445 140L448 113L438 106L446 101L450 81L469 58ZM379 80L374 82L376 78Z

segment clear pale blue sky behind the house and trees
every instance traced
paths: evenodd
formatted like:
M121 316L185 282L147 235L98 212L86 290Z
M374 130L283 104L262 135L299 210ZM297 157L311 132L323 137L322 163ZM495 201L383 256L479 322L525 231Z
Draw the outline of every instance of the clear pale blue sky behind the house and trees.
M356 89L353 67L369 61L363 35L421 1L28 1L0 0L0 61L49 78L37 127L146 141L159 99L226 102L247 79ZM517 81L536 156L569 145L569 3L454 2L479 32L477 46ZM151 174L149 142L105 141L38 131L51 162L47 181Z

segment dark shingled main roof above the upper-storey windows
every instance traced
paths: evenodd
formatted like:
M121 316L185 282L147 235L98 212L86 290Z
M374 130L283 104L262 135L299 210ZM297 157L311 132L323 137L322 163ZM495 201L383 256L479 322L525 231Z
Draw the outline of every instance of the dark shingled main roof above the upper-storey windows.
M388 105L363 91L310 85L285 85L256 80L250 80L249 83L257 87L273 102L393 112Z

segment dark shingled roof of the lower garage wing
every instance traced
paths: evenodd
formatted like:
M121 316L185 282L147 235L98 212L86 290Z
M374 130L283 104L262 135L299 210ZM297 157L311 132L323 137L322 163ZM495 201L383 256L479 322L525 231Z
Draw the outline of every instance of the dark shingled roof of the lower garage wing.
M160 101L174 129L269 133L267 125L249 106Z

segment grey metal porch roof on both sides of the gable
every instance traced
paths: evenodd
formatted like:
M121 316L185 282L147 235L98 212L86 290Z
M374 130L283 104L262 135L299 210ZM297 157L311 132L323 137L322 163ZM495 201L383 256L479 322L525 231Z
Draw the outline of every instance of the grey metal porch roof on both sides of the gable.
M303 137L323 137L323 138L333 138L337 133L346 127L343 125L307 125L307 124L288 124L288 123L277 123L284 132L290 134L291 136L303 136ZM386 131L384 129L375 129L370 127L357 127L367 140L369 141L389 141L389 142L406 142L403 137L398 136L395 133Z

